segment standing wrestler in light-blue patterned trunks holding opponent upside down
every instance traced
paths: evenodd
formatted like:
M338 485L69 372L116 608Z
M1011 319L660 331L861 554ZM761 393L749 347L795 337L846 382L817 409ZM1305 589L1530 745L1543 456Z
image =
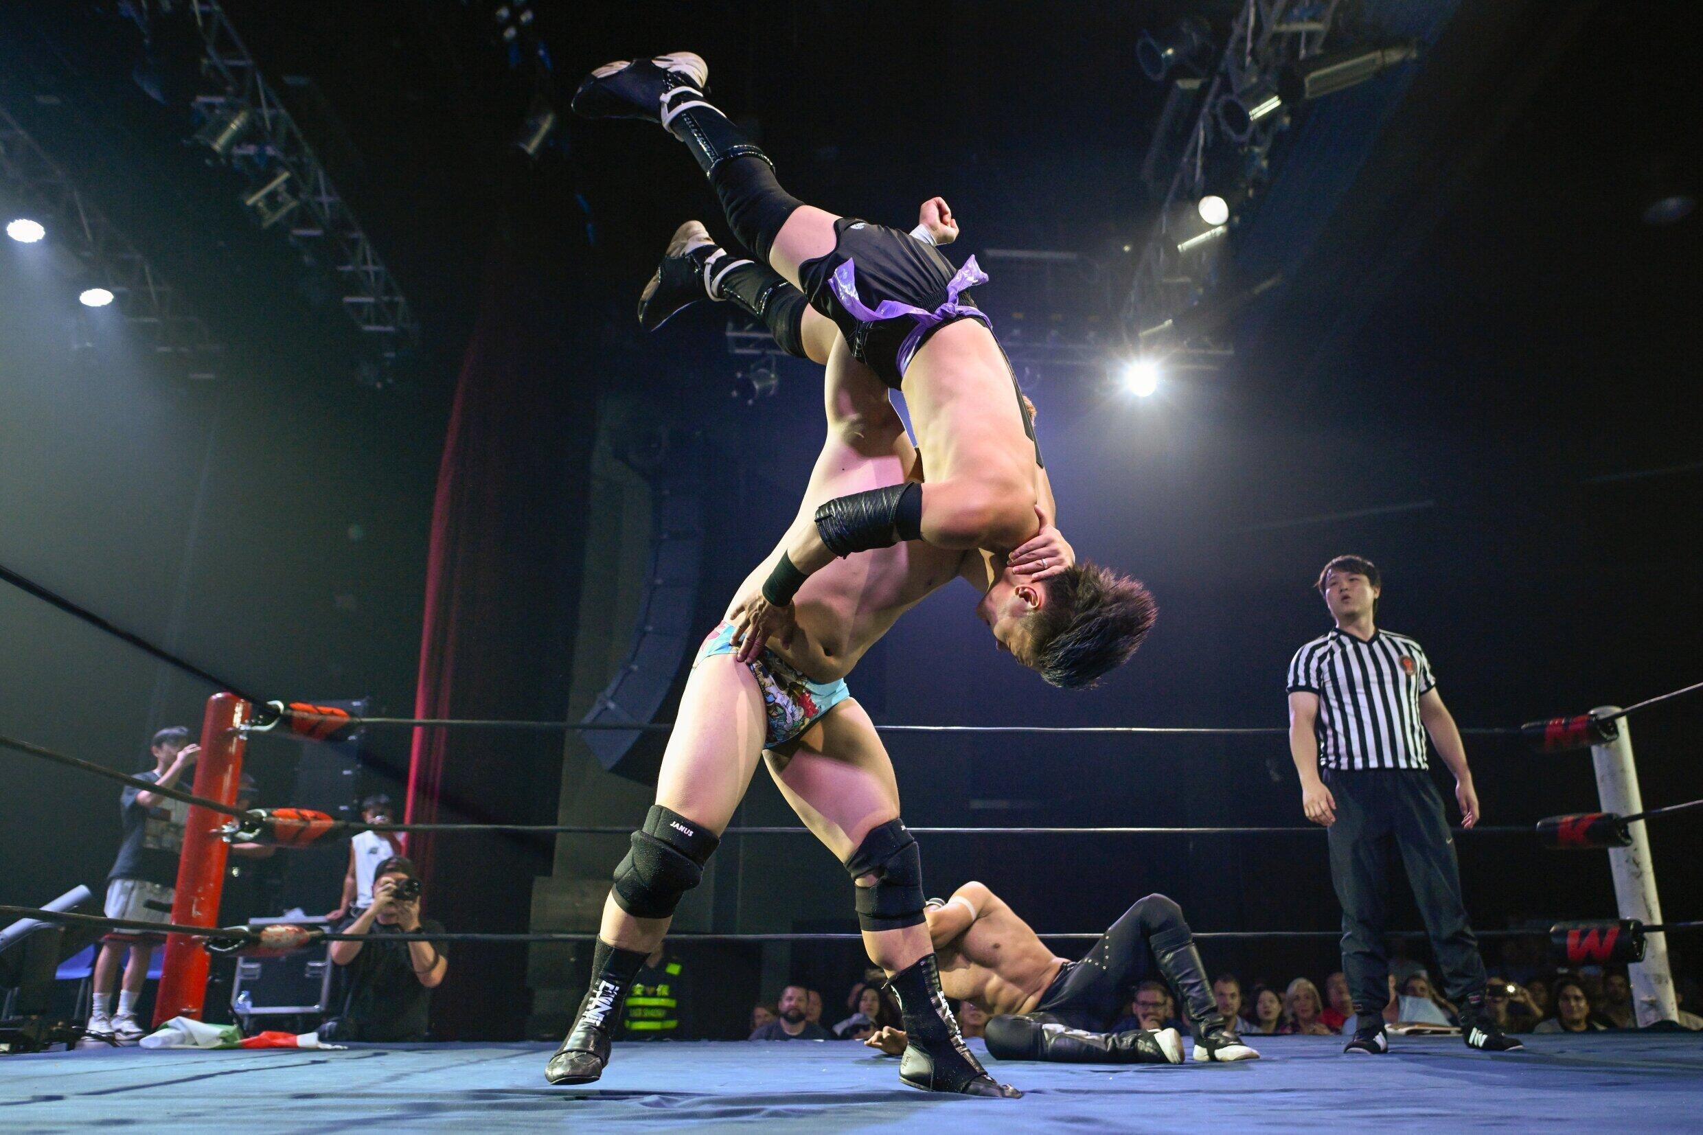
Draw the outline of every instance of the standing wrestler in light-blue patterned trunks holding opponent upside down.
M828 437L778 560L799 529L814 528L819 507L874 485L921 476L887 388L852 357L843 337L828 349L824 381ZM1037 509L1041 534L1017 550L1020 567L991 551L957 551L923 541L872 550L857 562L834 560L799 590L794 631L763 645L751 662L736 657L743 613L727 619L698 652L657 779L656 805L634 834L632 853L615 871L593 956L591 987L574 1028L552 1057L557 1084L598 1079L610 1058L610 1023L634 973L668 931L679 897L702 878L720 832L744 796L761 756L782 795L840 858L855 881L858 922L870 958L891 975L911 1040L899 1075L906 1084L967 1094L1015 1094L995 1084L964 1047L940 990L923 915L921 858L899 818L892 762L869 715L850 698L845 676L906 609L962 575L983 599L989 626L1015 609L1046 609L1058 560L1073 553L1052 526L1051 497ZM828 521L833 522L833 517ZM751 573L763 577L768 562ZM1115 618L1078 631L1080 657L1127 655L1153 623L1153 601L1134 580L1083 565L1078 587L1107 596ZM1025 657L1027 640L1010 647ZM1000 638L1001 647L1006 640Z

